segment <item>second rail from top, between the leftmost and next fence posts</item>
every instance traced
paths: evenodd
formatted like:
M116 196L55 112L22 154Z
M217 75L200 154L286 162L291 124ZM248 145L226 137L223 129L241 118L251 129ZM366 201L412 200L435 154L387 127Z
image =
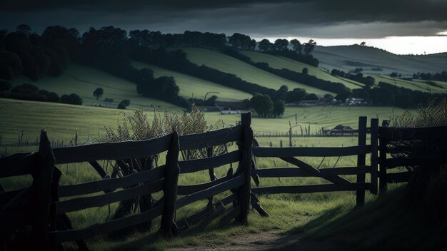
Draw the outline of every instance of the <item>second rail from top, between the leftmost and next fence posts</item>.
M159 168L146 170L140 173L134 173L123 178L110 178L106 180L96 180L87 183L75 185L61 185L58 193L59 197L85 195L88 193L97 193L104 190L114 190L116 188L126 188L131 185L144 182L154 182L164 178L165 165Z

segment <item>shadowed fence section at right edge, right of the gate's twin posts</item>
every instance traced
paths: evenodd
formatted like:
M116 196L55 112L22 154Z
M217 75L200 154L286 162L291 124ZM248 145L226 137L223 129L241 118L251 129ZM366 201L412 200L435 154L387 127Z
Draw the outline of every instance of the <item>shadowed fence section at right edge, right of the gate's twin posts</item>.
M413 168L420 165L447 163L444 148L431 148L431 143L447 142L447 126L431 128L393 128L386 122L378 128L380 165L379 190L386 192L389 183L410 180ZM444 144L445 146L445 144ZM436 149L436 150L435 150ZM425 153L429 150L429 153ZM434 150L434 151L433 151ZM390 173L388 170L392 170Z

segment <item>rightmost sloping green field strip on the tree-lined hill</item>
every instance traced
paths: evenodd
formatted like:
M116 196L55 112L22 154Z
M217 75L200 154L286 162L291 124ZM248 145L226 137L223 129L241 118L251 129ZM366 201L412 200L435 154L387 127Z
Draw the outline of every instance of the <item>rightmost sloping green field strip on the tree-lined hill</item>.
M308 69L308 74L312 76L316 76L317 78L326 80L326 81L332 81L332 82L338 82L343 83L346 87L350 89L356 89L363 87L363 83L358 83L356 81L351 81L346 78L340 78L337 76L331 75L331 73L328 73L328 71L325 71L321 68L316 68L314 66L309 66L306 63L301 63L295 60L292 60L290 58L284 58L282 56L273 56L267 53L261 53L257 51L240 51L245 56L248 56L251 58L254 62L265 62L268 63L269 66L272 68L282 69L286 68L291 71L301 72L303 71L303 68Z

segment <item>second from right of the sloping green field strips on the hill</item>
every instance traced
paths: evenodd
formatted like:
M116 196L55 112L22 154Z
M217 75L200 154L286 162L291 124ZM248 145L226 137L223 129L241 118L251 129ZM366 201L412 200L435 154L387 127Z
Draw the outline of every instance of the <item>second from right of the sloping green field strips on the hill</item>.
M289 81L286 78L281 78L272 73L268 73L254 66L248 65L236 58L227 56L220 51L213 51L204 48L181 48L187 54L187 57L193 63L206 65L211 68L216 68L219 71L231 73L245 81L257 83L261 86L273 88L277 90L283 85L288 86L289 89L305 88L308 93L316 93L317 95L324 95L328 91L323 91L318 88L306 86L302 83Z

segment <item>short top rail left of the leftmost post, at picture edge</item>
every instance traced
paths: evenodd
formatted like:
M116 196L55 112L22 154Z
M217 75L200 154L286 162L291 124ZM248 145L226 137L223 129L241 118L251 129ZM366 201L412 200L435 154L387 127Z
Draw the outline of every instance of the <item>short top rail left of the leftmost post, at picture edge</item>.
M36 166L37 153L17 153L0 158L0 178L31 174Z

